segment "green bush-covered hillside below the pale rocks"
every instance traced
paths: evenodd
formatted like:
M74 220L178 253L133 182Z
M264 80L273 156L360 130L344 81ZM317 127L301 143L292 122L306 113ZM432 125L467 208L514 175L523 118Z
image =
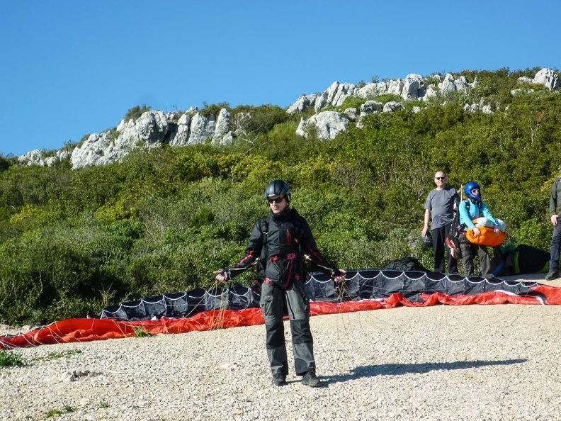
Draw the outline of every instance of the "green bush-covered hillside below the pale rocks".
M229 111L250 113L251 127L232 145L164 146L82 169L0 157L0 323L44 324L212 286L212 271L242 255L251 226L268 213L263 188L276 178L288 181L293 207L340 267L414 256L432 268L420 235L437 169L456 189L482 185L508 224L507 241L548 250L561 96L543 86L511 94L535 73L466 71L479 79L469 92L406 101L334 140L296 135L300 113L239 106ZM386 97L377 100L394 100ZM482 98L494 113L464 111ZM351 106L361 103L340 109ZM237 281L248 284L249 272Z

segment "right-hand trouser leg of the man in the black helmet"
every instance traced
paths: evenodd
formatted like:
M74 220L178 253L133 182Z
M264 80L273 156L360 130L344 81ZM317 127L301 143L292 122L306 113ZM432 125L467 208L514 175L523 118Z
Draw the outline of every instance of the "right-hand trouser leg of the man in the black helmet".
M290 334L293 341L294 366L298 376L315 371L314 341L310 330L310 301L304 283L294 281L285 291L290 318Z

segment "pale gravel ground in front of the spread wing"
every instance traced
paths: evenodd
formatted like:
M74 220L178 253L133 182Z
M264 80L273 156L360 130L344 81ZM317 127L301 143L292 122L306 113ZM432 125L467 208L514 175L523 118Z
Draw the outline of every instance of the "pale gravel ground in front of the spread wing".
M26 366L0 368L0 419L561 420L560 316L555 305L316 316L323 388L293 373L272 386L263 326L21 349Z

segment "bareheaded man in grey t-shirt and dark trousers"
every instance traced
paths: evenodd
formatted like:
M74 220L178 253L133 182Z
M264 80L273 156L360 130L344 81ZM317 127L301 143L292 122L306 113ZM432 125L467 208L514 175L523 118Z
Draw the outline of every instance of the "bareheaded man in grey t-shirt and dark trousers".
M436 189L429 193L425 203L424 228L422 236L425 237L429 232L429 220L432 218L431 234L434 250L434 271L445 273L444 271L444 250L448 255L448 273L458 273L458 261L450 254L446 247L446 236L452 226L454 211L458 209L460 196L458 191L446 186L446 174L437 171L434 174Z

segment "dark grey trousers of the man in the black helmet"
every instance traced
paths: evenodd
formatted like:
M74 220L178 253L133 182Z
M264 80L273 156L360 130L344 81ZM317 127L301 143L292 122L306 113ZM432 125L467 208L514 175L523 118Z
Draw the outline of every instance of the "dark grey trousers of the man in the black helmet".
M273 377L288 375L288 358L284 336L283 315L288 308L290 334L293 342L295 371L303 376L307 371L315 371L314 347L310 330L310 301L303 281L293 281L292 286L283 290L275 284L263 282L261 285L261 312L265 320L266 347Z

